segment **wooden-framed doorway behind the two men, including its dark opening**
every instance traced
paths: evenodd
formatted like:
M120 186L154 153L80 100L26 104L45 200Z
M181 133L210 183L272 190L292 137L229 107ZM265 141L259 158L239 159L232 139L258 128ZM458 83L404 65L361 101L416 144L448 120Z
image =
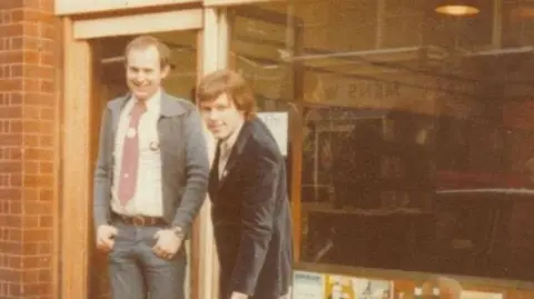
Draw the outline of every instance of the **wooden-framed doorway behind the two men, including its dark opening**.
M95 249L92 171L102 109L107 101L127 91L126 44L140 34L164 41L171 49L172 63L164 88L174 96L192 99L202 72L224 67L212 59L219 57L217 42L214 44L219 33L218 13L210 10L205 14L202 9L176 8L165 12L63 18L61 298L109 297L107 257ZM210 24L208 30L205 23ZM214 281L210 272L214 250L208 205L197 218L191 241L187 243L189 298L212 298L209 291Z

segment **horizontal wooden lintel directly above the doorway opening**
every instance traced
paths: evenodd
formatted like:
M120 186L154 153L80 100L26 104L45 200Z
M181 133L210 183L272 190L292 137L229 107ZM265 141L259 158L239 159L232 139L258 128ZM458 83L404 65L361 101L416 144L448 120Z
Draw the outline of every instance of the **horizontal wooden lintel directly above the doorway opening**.
M73 23L76 39L144 34L202 28L202 10L176 10L78 20Z

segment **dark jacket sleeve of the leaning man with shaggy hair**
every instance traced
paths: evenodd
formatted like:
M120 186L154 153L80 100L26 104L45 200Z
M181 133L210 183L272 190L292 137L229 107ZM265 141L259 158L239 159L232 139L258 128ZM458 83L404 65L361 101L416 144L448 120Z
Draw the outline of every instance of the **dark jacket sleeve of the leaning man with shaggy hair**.
M255 170L244 186L241 236L231 277L231 290L254 296L273 236L280 168L275 152L260 150Z

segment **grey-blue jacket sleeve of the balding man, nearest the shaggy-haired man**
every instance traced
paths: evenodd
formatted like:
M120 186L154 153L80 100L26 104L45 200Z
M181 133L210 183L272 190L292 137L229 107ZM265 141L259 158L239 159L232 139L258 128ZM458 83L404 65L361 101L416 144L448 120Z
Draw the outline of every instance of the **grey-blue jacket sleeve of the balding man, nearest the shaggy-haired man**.
M180 227L187 233L206 199L209 176L206 138L196 109L186 116L185 137L187 181L172 226Z

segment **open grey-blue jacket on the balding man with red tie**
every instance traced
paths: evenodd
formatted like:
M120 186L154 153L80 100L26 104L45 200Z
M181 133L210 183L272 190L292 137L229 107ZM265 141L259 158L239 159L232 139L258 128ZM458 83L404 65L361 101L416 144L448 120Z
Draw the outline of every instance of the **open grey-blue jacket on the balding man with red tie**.
M100 129L95 170L93 218L96 227L109 223L113 148L120 111L130 96L108 102ZM198 213L208 188L209 161L200 116L195 106L161 93L158 134L161 150L164 218L185 232Z

